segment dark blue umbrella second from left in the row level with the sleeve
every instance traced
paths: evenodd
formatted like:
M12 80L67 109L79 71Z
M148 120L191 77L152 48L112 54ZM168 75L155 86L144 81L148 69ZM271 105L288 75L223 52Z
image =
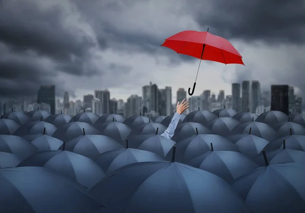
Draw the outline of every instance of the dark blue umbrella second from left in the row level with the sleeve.
M26 136L26 135L35 135L42 134L45 131L45 134L52 136L57 129L53 124L47 123L45 121L32 121L20 126L15 132L15 136Z

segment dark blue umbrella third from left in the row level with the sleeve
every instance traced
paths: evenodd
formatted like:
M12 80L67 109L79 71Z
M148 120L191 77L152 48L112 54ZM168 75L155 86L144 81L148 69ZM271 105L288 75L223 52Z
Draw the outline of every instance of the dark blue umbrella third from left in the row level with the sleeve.
M82 136L83 129L85 129L87 135L101 135L100 132L91 124L84 122L72 122L56 129L52 137L65 142L71 141L78 136Z

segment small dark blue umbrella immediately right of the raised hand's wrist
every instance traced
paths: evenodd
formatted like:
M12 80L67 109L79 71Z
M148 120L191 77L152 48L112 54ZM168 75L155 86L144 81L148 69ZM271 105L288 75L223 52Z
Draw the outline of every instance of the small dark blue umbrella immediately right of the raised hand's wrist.
M207 110L198 110L195 112L191 112L187 115L187 117L183 120L183 122L194 122L201 123L202 125L207 124L207 122L217 118L217 115Z

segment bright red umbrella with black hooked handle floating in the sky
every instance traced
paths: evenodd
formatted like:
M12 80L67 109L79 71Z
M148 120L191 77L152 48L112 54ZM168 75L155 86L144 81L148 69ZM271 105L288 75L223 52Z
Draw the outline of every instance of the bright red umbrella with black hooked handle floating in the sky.
M208 32L182 31L167 39L161 45L177 52L200 59L198 71L191 93L193 95L201 60L216 61L223 64L243 64L242 57L233 45L226 39Z

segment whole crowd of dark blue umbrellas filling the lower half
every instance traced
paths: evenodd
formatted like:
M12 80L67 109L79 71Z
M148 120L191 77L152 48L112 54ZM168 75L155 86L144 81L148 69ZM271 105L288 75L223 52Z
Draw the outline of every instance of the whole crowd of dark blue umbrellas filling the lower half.
M304 213L305 115L230 109L0 119L0 211Z

